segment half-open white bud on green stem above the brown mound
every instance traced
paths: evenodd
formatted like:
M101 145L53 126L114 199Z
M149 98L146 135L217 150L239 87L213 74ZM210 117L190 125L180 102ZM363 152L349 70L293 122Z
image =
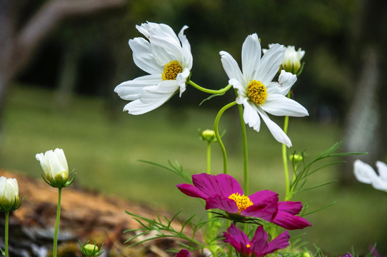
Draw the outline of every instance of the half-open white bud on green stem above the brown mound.
M37 153L36 160L40 161L46 180L51 186L61 187L69 180L69 166L62 149L56 148L46 153Z

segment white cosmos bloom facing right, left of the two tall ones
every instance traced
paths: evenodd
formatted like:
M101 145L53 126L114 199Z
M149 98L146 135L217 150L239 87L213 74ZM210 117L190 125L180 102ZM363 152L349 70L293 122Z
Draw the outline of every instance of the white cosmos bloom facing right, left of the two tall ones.
M164 104L176 91L183 94L192 68L191 46L184 35L187 28L184 26L178 37L166 24L136 26L146 39L130 39L129 46L134 63L149 75L116 86L114 91L121 99L131 101L124 111L144 114Z

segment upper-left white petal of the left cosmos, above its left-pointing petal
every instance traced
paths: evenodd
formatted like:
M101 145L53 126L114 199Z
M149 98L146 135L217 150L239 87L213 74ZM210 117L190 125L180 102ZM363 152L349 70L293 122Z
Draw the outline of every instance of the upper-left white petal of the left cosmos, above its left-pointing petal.
M154 55L151 53L151 44L148 41L143 38L130 39L129 46L131 51L133 51L134 63L140 69L149 74L163 72L164 66L158 64L154 59Z

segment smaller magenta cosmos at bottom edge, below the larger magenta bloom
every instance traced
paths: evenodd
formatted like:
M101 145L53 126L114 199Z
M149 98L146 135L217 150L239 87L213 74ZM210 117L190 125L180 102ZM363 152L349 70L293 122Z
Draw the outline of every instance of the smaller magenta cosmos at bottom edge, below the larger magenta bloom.
M285 231L279 236L268 242L268 235L263 230L263 226L256 229L256 233L251 241L243 231L237 228L234 224L228 228L227 233L223 232L226 237L226 243L230 243L241 256L265 256L268 253L273 253L278 249L283 249L289 246L289 233Z

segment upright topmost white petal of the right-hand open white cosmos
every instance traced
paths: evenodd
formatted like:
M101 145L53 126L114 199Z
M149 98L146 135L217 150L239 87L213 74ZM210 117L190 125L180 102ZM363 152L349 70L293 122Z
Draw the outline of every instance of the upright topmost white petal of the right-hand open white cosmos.
M242 46L242 71L247 83L253 77L253 73L260 62L261 44L257 34L251 34L246 37Z

